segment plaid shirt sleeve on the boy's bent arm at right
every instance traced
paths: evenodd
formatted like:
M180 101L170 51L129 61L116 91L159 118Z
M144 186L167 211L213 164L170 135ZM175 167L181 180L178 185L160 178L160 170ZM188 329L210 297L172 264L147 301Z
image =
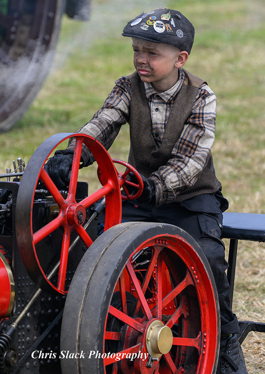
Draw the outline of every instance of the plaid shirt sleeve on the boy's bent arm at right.
M175 201L183 189L196 182L214 142L215 119L216 96L204 84L172 150L172 158L150 176L156 184L156 206Z

